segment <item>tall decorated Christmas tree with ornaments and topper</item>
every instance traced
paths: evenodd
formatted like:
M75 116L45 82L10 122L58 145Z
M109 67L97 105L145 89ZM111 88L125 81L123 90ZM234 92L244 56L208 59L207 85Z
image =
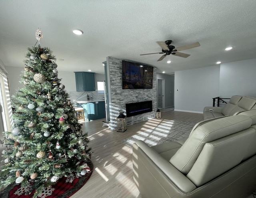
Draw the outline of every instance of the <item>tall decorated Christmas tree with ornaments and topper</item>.
M39 29L37 43L41 38ZM4 132L8 149L2 154L0 188L20 184L37 197L62 176L88 172L87 133L81 131L55 61L49 48L28 48L20 79L24 88L12 98L14 127Z

